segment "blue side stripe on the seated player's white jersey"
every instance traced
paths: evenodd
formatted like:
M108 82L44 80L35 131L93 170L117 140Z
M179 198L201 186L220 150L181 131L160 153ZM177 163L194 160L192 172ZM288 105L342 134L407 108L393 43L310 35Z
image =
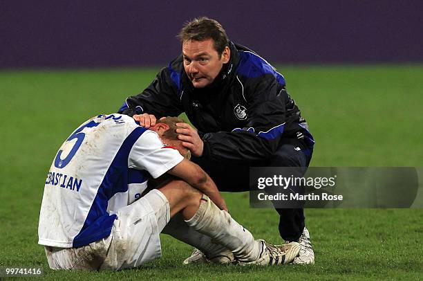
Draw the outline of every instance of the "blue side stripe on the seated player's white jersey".
M114 194L128 190L129 152L131 152L135 141L146 130L143 127L135 128L122 143L103 178L100 188L97 190L97 195L85 219L84 226L73 239L73 248L88 245L110 235L113 221L117 216L109 215L106 211L108 201Z

